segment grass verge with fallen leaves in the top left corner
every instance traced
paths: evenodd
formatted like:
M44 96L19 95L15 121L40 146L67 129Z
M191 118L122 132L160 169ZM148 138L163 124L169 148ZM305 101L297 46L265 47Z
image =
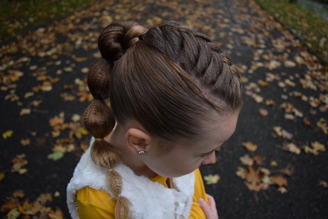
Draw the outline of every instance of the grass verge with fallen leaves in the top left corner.
M95 0L1 0L0 42L14 39L29 29L94 2Z

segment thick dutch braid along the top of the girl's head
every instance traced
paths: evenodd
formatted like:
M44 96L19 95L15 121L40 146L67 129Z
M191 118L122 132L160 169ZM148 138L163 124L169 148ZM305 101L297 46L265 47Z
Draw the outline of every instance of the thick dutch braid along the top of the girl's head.
M240 73L227 54L204 34L181 24L163 23L150 29L143 41L171 58L188 76L199 80L200 86L222 98L230 108L241 106Z

